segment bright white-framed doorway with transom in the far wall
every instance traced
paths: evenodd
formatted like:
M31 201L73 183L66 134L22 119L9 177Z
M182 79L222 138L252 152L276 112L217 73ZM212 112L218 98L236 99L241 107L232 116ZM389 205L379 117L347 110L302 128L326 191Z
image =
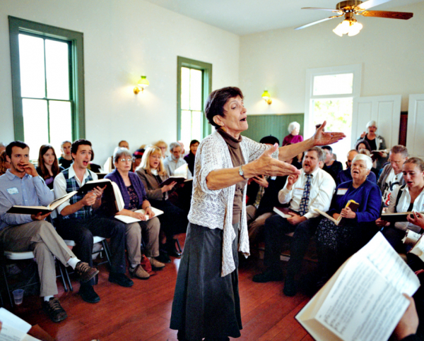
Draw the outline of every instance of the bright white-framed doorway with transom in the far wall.
M353 97L360 95L361 65L307 70L305 136L326 121L326 131L343 131L346 138L332 145L337 160L346 162L351 150Z

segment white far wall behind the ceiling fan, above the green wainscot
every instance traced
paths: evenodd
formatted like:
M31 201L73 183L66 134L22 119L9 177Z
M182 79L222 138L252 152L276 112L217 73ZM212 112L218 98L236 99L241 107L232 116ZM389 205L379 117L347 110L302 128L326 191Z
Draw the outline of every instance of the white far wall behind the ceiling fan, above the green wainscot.
M358 63L363 65L361 96L402 95L402 111L408 110L408 95L424 92L424 2L391 10L414 15L410 20L358 16L363 30L354 37L332 32L339 18L303 30L241 37L240 87L248 112L305 112L308 68ZM271 105L261 100L264 88L270 92Z

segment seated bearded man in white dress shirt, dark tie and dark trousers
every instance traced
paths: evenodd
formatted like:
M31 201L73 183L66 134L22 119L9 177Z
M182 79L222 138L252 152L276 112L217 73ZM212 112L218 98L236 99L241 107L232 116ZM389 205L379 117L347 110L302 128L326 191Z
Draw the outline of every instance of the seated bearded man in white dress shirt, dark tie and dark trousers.
M284 188L278 193L280 203L290 203L290 218L273 215L265 222L266 270L255 275L254 282L283 280L280 265L281 241L286 233L295 232L290 248L284 294L296 294L295 275L300 271L310 238L314 235L321 217L314 209L329 210L336 183L319 164L324 162L324 152L319 147L305 152L300 175L290 175Z

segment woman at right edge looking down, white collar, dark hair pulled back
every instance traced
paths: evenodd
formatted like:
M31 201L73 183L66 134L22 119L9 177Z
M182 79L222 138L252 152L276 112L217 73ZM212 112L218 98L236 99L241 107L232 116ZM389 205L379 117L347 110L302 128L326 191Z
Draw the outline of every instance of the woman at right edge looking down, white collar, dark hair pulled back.
M396 186L390 194L389 207L386 213L423 212L424 205L424 161L419 157L411 157L404 162L402 173L406 186ZM398 252L405 252L402 239L405 237L407 229L413 232L422 233L422 215L408 217L408 222L395 222L394 226L389 222L385 223L383 235L390 245ZM377 223L382 221L380 218ZM384 222L384 221L383 221Z

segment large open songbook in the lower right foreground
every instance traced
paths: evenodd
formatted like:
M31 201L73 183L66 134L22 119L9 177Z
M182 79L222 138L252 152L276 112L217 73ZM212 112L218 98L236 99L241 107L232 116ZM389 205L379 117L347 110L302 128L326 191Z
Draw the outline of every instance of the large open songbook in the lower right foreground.
M418 277L381 232L349 258L298 313L317 341L388 340Z

